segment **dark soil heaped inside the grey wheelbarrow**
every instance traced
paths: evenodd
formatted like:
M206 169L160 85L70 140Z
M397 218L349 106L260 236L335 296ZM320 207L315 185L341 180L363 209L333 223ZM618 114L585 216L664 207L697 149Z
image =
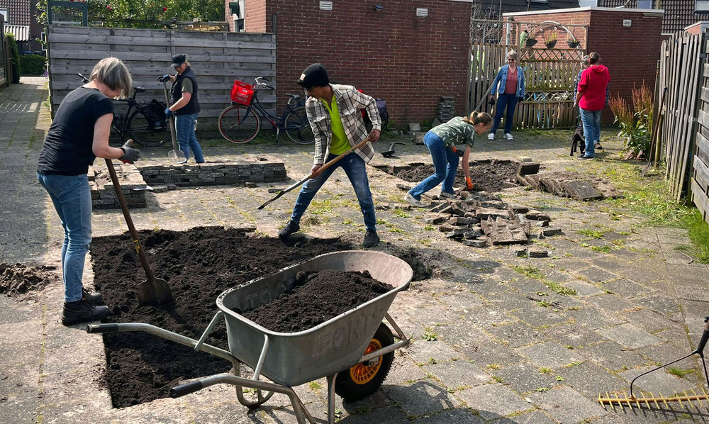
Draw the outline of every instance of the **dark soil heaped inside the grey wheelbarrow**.
M247 319L279 333L296 333L322 324L393 289L369 272L298 272L296 286L284 296L252 311ZM240 313L240 311L237 311Z

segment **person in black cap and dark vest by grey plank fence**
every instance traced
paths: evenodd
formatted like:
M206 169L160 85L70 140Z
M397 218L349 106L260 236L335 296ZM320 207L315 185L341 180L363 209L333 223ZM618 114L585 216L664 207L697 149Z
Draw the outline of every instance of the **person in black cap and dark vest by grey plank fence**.
M199 113L199 100L197 99L197 79L185 55L174 55L172 67L177 74L163 75L158 78L160 82L172 82L170 89L172 106L165 109L165 116L175 116L175 129L177 130L177 143L186 160L189 159L189 150L194 153L194 161L204 163L202 147L194 135L194 125ZM185 160L185 162L186 162Z

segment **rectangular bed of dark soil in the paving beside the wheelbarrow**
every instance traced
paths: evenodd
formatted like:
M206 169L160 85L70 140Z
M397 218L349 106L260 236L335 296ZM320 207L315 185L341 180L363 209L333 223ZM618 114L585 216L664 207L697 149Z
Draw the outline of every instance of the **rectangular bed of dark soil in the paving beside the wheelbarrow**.
M140 240L155 277L168 282L175 303L138 306L138 284L146 277L129 235L94 238L94 284L111 309L104 322L149 323L193 339L199 339L218 311L216 298L226 289L323 253L351 248L340 239L303 239L284 245L277 238L220 227L141 231ZM430 274L430 267L423 266L425 260L408 250L401 253L414 269ZM341 293L330 291L328 296L339 298ZM106 382L113 406L119 408L167 397L178 381L229 372L231 368L224 359L155 335L113 333L103 337ZM228 349L223 323L206 342Z

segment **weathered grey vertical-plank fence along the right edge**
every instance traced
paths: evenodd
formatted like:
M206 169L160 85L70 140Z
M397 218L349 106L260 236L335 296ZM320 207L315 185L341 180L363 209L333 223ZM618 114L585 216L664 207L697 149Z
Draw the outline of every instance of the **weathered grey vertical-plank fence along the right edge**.
M706 180L701 179L701 172L699 182L694 181L693 177L696 166L694 150L698 141L694 123L698 118L700 86L703 83L700 78L705 69L704 38L704 35L675 35L664 40L661 45L656 99L665 88L667 91L664 108L658 117L661 125L658 128L655 160L665 161L665 178L671 194L677 200L701 181L706 189ZM699 112L699 117L709 128L709 121L703 118L707 111L709 108ZM693 182L689 184L691 178Z

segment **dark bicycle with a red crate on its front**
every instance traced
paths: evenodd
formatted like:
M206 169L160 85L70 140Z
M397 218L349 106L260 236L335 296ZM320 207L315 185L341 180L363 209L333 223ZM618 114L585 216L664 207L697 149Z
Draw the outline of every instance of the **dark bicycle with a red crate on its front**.
M255 83L251 86L235 82L235 85L245 89L245 94L239 96L236 101L232 99L231 106L227 106L219 114L219 133L222 137L237 144L247 143L256 138L261 130L261 118L258 111L276 130L277 143L281 130L284 130L288 138L295 143L303 145L314 143L315 135L308 122L305 103L301 101L301 96L286 94L289 99L281 116L272 115L262 106L258 92L262 88L270 90L275 90L275 88L263 81L269 82L264 77L256 77Z

